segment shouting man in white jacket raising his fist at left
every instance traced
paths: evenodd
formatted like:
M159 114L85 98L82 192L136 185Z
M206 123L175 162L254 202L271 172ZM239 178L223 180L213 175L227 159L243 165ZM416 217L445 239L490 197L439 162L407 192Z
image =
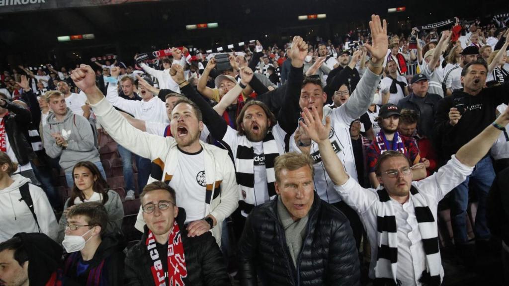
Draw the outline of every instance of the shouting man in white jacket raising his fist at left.
M173 137L148 134L131 126L104 100L90 66L81 65L71 77L87 95L104 130L129 151L153 162L151 181L160 180L178 190L177 205L186 210L188 235L211 231L220 244L222 222L237 208L239 189L228 152L199 140L200 109L189 100L178 100L172 110Z

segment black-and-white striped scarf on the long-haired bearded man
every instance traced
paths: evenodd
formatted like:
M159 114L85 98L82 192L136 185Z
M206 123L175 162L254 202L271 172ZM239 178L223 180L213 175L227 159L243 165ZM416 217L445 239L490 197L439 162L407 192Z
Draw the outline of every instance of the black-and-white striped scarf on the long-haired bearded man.
M274 187L274 160L279 156L279 151L271 131L263 139L263 153L265 156L265 170L267 172L267 190L269 197L272 198L276 195ZM256 202L254 199L254 148L251 141L247 140L247 137L246 140L239 142L235 161L237 183L240 185L243 200L248 204Z

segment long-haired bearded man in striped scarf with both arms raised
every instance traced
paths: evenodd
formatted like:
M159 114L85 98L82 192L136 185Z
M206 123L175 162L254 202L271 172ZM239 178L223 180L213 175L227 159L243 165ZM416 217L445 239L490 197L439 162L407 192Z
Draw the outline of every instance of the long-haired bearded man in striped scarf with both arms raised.
M281 106L278 119L276 120L263 102L248 101L237 117L238 130L228 126L202 96L188 86L187 81L183 79L181 67L175 69L174 77L185 81L181 84L184 94L200 106L204 112L204 123L209 128L210 134L220 141L234 158L237 182L241 188L241 201L237 214L238 223L235 224L238 237L244 226L243 220L252 208L269 201L276 195L274 159L288 151L286 136L291 134L297 126L299 88L303 78L303 62L306 55L307 44L301 37L294 37L290 51L292 68L287 87L284 90L285 104ZM241 70L241 72L244 71L245 69Z

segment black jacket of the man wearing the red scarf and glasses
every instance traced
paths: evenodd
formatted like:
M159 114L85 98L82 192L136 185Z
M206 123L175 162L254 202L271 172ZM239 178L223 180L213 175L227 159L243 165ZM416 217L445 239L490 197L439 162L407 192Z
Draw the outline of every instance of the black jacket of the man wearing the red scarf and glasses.
M184 283L193 286L231 285L216 240L212 237L210 232L197 237L187 237L187 231L184 225L185 217L184 209L179 208L179 215L176 219L181 231L182 243L184 244L184 256L187 268L187 277L183 279ZM155 285L150 270L150 266L153 263L146 245L148 234L149 230L147 225L145 225L145 232L142 239L127 251L125 260L125 286Z

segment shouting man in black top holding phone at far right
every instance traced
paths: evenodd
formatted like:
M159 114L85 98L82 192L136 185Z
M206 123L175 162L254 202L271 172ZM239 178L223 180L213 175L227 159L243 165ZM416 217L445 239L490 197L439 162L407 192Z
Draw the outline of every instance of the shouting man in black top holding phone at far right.
M488 67L484 61L467 64L461 71L463 90L455 90L452 96L438 102L435 131L440 147L436 150L440 152L439 157L442 160L450 158L461 146L490 125L495 120L498 105L507 104L509 82L485 88L487 73ZM451 220L455 245L460 250L460 255L465 255L464 258L470 262L471 258L468 256L472 253L472 245L468 243L466 227L468 182L469 179L473 179L477 186L475 190L478 205L474 234L477 246L484 249L483 246L491 237L486 222L486 199L494 178L495 171L491 158L485 156L476 163L473 173L452 192Z

